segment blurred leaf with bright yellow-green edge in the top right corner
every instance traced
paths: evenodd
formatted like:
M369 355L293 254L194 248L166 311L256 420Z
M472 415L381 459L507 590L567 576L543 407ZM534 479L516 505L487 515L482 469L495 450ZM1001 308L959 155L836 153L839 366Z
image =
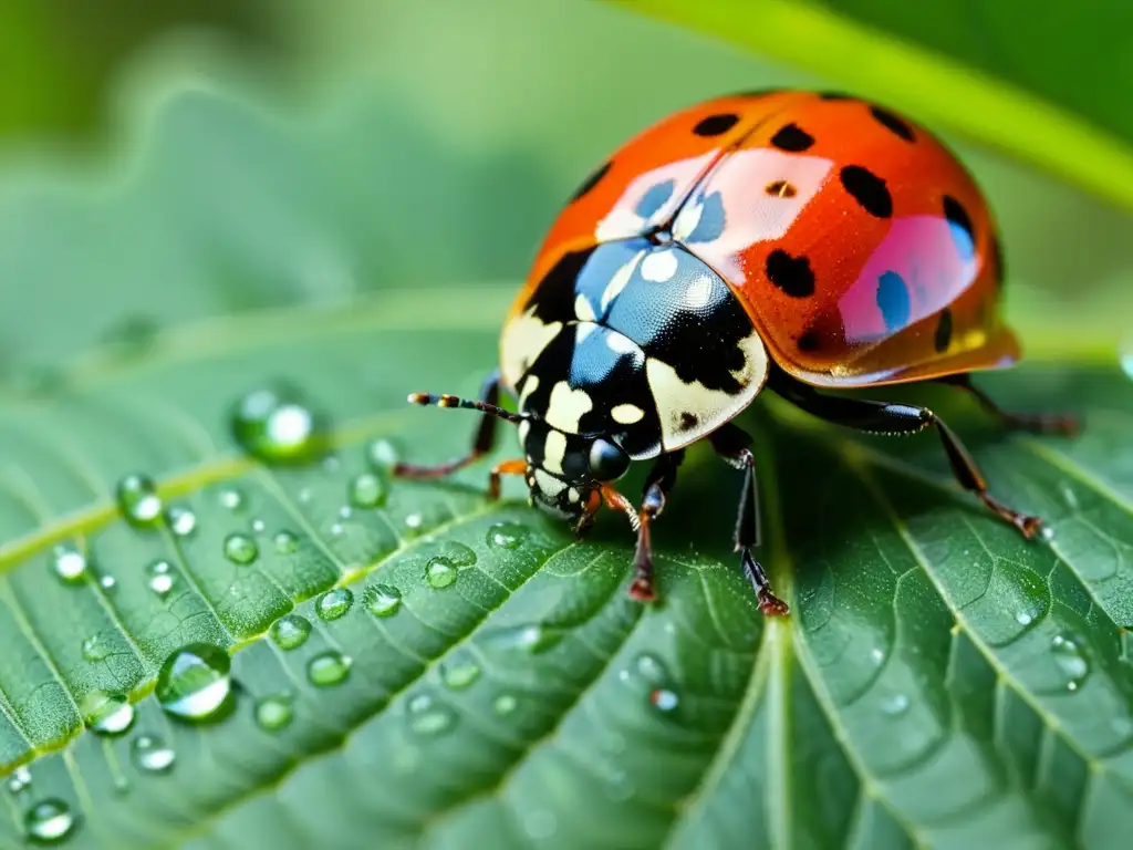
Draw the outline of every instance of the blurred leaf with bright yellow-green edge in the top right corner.
M1133 205L1133 84L1122 3L1033 14L1024 0L607 0L954 128ZM897 37L894 37L897 36Z

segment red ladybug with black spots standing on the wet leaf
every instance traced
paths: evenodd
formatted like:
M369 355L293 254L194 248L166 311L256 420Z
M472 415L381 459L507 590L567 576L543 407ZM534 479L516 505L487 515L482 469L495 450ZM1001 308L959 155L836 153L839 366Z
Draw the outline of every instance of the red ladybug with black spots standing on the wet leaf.
M735 547L765 614L786 614L757 544L751 437L732 419L764 390L838 425L932 427L960 484L1031 538L1041 520L998 501L928 408L830 391L914 381L965 390L1003 425L1072 434L1065 416L999 409L969 373L1015 363L999 315L1003 256L985 197L912 121L842 94L769 91L683 109L594 171L551 227L500 337L480 400L414 393L484 416L471 451L394 475L434 478L519 428L529 501L581 536L605 503L637 534L630 595L655 598L649 528L685 448L707 440L743 476ZM499 407L500 392L517 413ZM641 503L614 482L651 460Z

